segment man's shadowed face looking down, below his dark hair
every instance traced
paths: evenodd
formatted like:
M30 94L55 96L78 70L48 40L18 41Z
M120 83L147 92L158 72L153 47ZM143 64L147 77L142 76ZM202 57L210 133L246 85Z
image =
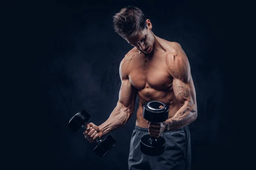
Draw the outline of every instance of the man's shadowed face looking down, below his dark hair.
M147 26L143 31L138 32L138 34L131 38L126 38L125 40L138 48L140 51L143 51L146 54L151 53L154 45L154 35L151 32L151 26Z

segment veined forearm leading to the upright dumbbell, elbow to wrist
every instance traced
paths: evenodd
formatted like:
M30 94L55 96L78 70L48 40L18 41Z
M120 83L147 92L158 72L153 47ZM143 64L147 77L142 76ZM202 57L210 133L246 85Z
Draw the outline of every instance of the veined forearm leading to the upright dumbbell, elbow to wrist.
M166 120L167 130L175 130L189 125L197 118L195 103L184 102L184 105L176 112L175 116Z

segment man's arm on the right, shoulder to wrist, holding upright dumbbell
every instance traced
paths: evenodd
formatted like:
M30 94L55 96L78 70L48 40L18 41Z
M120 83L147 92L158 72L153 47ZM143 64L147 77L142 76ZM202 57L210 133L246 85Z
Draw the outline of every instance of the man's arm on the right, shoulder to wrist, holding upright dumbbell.
M177 43L175 53L166 56L166 71L173 77L173 92L180 109L167 119L166 129L174 130L189 125L197 118L195 86L192 80L188 58Z

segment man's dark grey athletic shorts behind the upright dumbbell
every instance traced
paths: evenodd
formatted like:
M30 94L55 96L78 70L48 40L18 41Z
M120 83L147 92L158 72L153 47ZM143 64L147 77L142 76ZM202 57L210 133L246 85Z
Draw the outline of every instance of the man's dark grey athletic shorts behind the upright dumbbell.
M190 170L191 145L189 128L165 131L165 151L160 156L147 156L140 151L140 139L148 134L147 128L135 127L131 136L128 158L129 170Z

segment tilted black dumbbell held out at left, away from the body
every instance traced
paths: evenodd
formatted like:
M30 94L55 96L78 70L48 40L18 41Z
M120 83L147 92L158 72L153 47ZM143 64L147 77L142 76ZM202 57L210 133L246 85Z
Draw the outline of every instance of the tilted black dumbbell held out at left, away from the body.
M82 110L76 113L69 121L68 126L71 130L76 132L80 127L86 130L86 122L90 119L90 114L87 111ZM95 140L97 146L94 148L94 152L99 156L103 157L108 153L116 144L116 140L113 139L111 135L107 136L105 139L100 139L97 137Z

